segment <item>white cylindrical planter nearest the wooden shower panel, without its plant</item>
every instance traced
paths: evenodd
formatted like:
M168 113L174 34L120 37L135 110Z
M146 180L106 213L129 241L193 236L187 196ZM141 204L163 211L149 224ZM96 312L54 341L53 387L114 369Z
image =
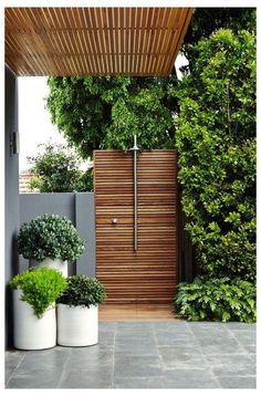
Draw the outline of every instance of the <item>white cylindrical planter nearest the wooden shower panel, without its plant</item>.
M58 304L58 344L87 346L98 342L98 306Z

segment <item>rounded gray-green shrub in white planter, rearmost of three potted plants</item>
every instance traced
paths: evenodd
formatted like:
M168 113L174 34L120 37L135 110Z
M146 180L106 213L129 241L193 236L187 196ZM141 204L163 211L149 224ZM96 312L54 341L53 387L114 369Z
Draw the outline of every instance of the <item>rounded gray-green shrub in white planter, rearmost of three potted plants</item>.
M70 219L46 213L21 226L18 249L30 267L51 267L67 277L67 260L82 254L84 241Z

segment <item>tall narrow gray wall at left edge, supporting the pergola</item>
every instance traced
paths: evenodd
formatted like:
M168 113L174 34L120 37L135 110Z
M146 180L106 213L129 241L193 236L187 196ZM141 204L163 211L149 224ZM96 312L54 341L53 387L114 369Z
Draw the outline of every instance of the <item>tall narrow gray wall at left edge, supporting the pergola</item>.
M19 227L19 157L10 149L13 132L18 132L18 80L6 67L6 133L4 133L4 278L8 281L18 273L17 233ZM6 345L12 345L12 294L6 288Z

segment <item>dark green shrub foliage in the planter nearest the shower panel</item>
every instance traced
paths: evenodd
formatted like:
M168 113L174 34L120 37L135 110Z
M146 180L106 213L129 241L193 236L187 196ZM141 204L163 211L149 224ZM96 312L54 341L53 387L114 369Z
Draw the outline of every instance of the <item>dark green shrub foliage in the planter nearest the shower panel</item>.
M106 299L106 292L102 283L95 278L86 275L73 275L66 279L67 288L58 300L58 303L70 306L97 305Z

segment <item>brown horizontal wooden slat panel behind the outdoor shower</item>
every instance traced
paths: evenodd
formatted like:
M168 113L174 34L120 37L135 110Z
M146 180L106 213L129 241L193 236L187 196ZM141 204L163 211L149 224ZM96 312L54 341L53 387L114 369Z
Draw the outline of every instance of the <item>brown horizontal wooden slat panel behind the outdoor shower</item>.
M171 302L178 267L176 152L143 152L138 158L136 252L133 155L95 152L94 175L96 275L106 288L107 303Z

